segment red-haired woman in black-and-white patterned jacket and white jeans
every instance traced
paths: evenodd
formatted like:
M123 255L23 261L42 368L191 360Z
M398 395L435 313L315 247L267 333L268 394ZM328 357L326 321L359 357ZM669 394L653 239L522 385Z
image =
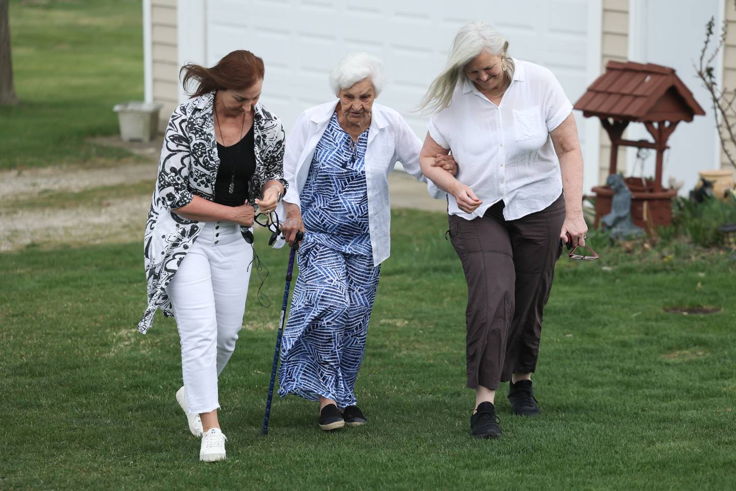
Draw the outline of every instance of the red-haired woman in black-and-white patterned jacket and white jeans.
M192 99L171 115L146 224L148 307L177 322L184 386L176 398L199 459L225 458L217 377L235 349L252 261L255 207L273 211L286 192L281 121L258 102L263 60L239 50L216 66L181 70ZM246 240L244 240L244 238ZM248 244L250 241L251 244Z

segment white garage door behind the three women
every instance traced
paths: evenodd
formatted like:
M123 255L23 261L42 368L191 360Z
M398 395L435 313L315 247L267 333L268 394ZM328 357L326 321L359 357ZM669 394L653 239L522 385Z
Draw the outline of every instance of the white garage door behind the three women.
M601 0L179 0L178 18L182 64L211 66L233 49L263 57L261 102L287 131L302 110L334 99L330 68L348 52L365 51L386 63L389 82L379 102L402 113L423 139L428 118L412 110L459 27L473 19L506 35L513 57L550 68L573 103L600 74ZM578 117L578 127L590 188L598 122Z

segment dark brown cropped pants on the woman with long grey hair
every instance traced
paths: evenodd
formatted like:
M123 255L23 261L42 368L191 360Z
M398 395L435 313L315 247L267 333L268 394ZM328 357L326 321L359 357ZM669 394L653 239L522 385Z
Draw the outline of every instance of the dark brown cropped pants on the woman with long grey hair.
M565 198L520 219L503 219L503 201L484 216L450 215L450 240L467 280L467 386L498 389L514 372L537 367L542 314L554 264Z

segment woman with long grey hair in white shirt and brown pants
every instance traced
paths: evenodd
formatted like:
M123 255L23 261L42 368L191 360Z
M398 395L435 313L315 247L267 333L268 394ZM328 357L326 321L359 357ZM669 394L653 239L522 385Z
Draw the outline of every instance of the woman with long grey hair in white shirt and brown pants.
M434 112L422 172L449 194L450 239L467 280L471 434L500 437L500 381L509 381L514 414L539 414L531 372L554 265L562 241L585 245L572 105L551 71L509 57L508 41L475 21L456 35L422 106ZM450 151L456 177L433 166Z

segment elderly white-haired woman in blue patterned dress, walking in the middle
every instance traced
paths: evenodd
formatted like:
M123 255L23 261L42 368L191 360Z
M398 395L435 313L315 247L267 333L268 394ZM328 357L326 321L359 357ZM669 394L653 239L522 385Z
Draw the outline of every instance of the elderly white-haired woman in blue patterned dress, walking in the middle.
M305 235L279 395L318 400L319 428L326 431L367 422L354 389L381 263L389 257L389 173L400 160L426 182L421 141L399 113L374 103L383 81L378 58L345 57L330 74L339 100L302 113L284 157L289 191L282 229L290 244L297 230ZM448 176L456 171L449 155L430 165Z

